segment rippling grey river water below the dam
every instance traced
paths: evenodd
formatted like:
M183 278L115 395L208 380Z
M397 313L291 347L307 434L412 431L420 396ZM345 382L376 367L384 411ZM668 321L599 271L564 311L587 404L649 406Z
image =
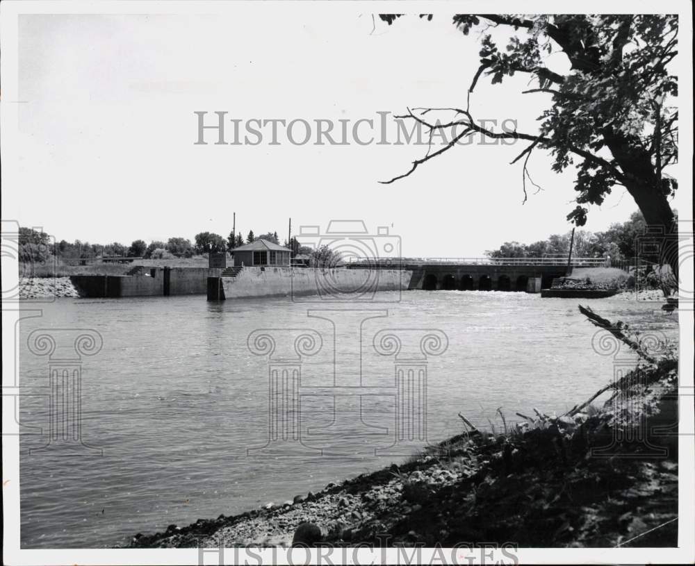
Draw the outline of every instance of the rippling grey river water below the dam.
M403 456L374 454L393 442L395 424L393 357L375 353L372 342L382 328L398 328L410 338L420 331L403 329L436 329L448 337L448 350L427 360L430 442L461 431L459 411L478 426L489 426L488 419L500 424L498 407L508 420L534 407L559 413L612 376L612 358L592 349L596 329L578 313L577 301L457 291L404 292L400 302L393 302L396 293L379 298L391 302L361 305L388 309L389 316L361 325L361 383L373 393L363 397L362 419L370 428L361 425L361 432L371 434L355 437L341 428L361 424L354 417L355 397L336 405L344 411L338 416L351 419L325 428L334 418L332 397L326 396L334 367L337 385L358 385L360 379L354 355L358 326L345 326L345 340L345 313L325 315L338 320L334 366L332 322L309 318L310 305L286 299L60 299L42 306L42 317L20 325L22 387L33 393L22 398L20 419L48 430L48 359L28 350L31 331L97 331L103 347L82 365L82 438L103 456L29 454L47 437L22 436L22 547L110 547L138 532L281 503L402 461ZM321 306L340 307L311 305ZM660 329L672 337L678 332L677 315L662 314L658 303L600 299L591 306L642 331ZM247 348L257 328L313 328L323 337L321 351L302 367L303 393L323 387L314 390L323 395L302 397L302 435L306 427L315 432L305 444L324 449L322 456L247 455L268 440L268 358ZM281 333L278 356L285 338L299 330L293 332ZM388 434L378 434L386 429Z

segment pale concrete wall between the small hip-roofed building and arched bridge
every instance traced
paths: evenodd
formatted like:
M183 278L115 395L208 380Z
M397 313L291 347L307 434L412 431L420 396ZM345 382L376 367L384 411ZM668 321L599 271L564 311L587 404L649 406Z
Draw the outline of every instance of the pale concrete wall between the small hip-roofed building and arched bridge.
M407 290L412 272L401 269L244 267L235 276L208 277L208 300L320 295L371 300L377 291Z

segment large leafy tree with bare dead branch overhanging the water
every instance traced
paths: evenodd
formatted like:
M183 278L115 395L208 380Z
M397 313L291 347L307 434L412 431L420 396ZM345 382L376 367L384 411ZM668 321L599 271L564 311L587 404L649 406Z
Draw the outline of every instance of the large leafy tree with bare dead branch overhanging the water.
M391 25L399 15L380 17ZM675 217L668 199L678 183L664 169L678 159L678 110L669 105L678 94L677 78L669 72L669 63L678 53L678 16L460 14L453 23L465 35L482 24L507 30L507 45L500 49L483 29L480 67L468 88L466 108L445 109L455 112L454 119L436 120L434 108L417 114L409 109L402 116L425 126L430 134L450 131L452 135L444 147L428 150L408 172L386 183L408 176L473 135L525 140L528 145L512 161L523 159L524 201L528 159L534 149L546 149L554 158L555 172L570 165L577 169L577 205L567 215L576 226L587 222L585 205L600 205L621 185L635 199L647 224L672 233ZM554 53L569 60L567 74L546 67L546 59ZM550 94L548 108L539 117L537 132L493 133L471 114L471 95L483 74L496 84L516 73L537 81L537 88L523 94ZM678 253L667 256L677 276Z

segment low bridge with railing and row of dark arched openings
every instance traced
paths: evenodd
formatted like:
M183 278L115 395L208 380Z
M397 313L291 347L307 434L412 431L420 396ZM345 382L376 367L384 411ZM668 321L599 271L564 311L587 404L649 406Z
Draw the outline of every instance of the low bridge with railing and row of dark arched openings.
M549 288L554 278L573 267L604 267L605 258L369 258L352 261L350 269L407 269L410 289L460 291L533 291Z

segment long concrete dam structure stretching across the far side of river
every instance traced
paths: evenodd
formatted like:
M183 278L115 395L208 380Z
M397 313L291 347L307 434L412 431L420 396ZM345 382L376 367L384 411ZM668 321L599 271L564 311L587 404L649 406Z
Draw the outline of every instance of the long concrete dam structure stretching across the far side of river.
M210 301L245 297L340 297L380 291L461 290L540 292L573 267L598 267L603 258L389 258L341 267L235 265L211 258L210 267L136 266L126 275L75 275L82 297L171 297L206 294Z

